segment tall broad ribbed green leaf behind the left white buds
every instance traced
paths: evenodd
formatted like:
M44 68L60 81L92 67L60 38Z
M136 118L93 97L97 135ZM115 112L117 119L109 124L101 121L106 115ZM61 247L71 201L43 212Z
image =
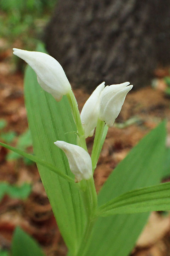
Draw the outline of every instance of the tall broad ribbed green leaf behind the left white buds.
M39 47L38 51L44 51L44 48ZM36 74L29 66L25 73L24 90L35 156L74 178L66 155L54 145L56 140L76 144L76 134L69 133L76 131L76 127L67 97L63 96L60 102L56 102L41 89ZM81 194L75 184L68 183L46 167L38 164L38 169L63 239L74 254L86 223Z

